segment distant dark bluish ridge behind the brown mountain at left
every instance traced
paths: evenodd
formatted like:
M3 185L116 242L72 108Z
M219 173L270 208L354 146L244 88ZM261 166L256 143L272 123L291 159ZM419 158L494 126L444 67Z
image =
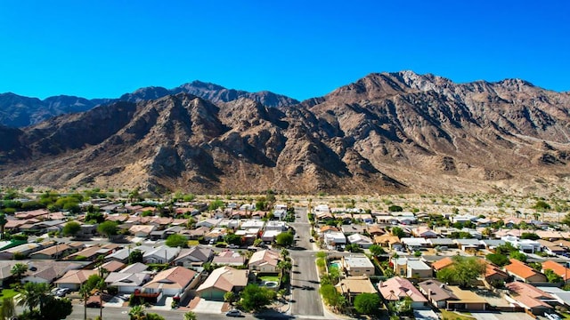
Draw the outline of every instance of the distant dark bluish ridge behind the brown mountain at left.
M138 102L156 100L179 92L191 93L214 103L248 98L250 100L256 100L267 107L284 107L299 102L273 92L237 91L226 89L217 84L207 84L199 81L183 84L174 89L155 86L141 88L135 92L123 94L118 99L87 100L79 97L61 95L39 100L37 98L23 97L9 92L0 94L0 125L16 128L25 127L31 124L38 124L53 116L82 112L115 101Z

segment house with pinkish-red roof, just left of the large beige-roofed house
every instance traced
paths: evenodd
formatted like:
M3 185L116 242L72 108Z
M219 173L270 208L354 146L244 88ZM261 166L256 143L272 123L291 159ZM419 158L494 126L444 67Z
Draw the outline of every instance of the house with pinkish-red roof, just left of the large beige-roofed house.
M178 297L184 299L188 293L199 282L199 274L189 268L174 267L160 271L150 282L142 285L142 294L157 294L167 297ZM137 292L134 291L134 295ZM157 298L158 300L160 298Z

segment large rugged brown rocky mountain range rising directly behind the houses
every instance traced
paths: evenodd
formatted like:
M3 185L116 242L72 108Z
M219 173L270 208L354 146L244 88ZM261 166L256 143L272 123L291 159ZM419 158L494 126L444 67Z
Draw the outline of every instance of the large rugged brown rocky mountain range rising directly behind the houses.
M277 108L229 92L163 92L0 127L9 137L0 184L308 194L570 187L570 94L522 80L371 74Z

